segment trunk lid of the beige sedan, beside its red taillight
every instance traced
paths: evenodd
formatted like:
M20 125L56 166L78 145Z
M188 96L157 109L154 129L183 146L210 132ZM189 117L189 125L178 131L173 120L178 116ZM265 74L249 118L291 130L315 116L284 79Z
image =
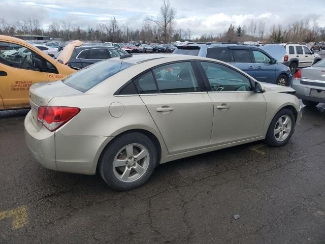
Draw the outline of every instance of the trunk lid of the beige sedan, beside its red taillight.
M82 94L62 81L42 82L31 85L29 88L29 103L31 106L32 123L40 131L42 124L37 120L39 106L46 106L52 98Z

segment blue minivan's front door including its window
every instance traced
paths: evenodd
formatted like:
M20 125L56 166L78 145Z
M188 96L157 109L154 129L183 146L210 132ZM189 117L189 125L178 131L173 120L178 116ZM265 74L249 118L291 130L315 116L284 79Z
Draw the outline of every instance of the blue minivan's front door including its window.
M275 64L272 64L272 59L265 53L259 50L252 50L254 65L255 65L255 79L258 81L276 83Z

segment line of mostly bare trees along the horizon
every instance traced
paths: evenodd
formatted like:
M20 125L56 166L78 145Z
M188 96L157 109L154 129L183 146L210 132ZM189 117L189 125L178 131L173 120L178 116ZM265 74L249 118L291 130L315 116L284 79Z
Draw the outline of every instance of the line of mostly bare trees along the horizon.
M195 41L195 42L244 42L266 41L270 43L286 42L318 42L325 40L325 28L319 27L316 21L303 19L283 26L273 25L266 30L264 20L251 20L243 26L231 24L224 32L217 35L203 34L192 38L190 28L177 28L177 11L169 0L163 0L156 17L145 17L141 28L130 28L119 23L115 17L95 27L88 25L82 28L69 20L53 21L48 29L43 29L38 19L28 18L16 22L8 22L0 18L0 35L43 35L62 40L89 40L98 42L165 42Z

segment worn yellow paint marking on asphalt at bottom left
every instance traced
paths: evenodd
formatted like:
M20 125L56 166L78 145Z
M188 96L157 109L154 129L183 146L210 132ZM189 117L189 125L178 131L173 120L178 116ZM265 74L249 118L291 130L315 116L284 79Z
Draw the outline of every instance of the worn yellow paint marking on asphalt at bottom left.
M12 229L24 227L28 223L27 206L23 205L8 211L0 212L0 220L12 219Z

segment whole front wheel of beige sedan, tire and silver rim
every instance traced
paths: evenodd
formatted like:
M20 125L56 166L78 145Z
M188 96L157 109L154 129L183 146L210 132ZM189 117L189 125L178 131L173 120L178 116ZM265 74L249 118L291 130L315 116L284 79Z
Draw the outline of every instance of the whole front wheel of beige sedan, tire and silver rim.
M295 116L287 108L281 109L272 119L265 142L270 146L285 145L295 131Z

